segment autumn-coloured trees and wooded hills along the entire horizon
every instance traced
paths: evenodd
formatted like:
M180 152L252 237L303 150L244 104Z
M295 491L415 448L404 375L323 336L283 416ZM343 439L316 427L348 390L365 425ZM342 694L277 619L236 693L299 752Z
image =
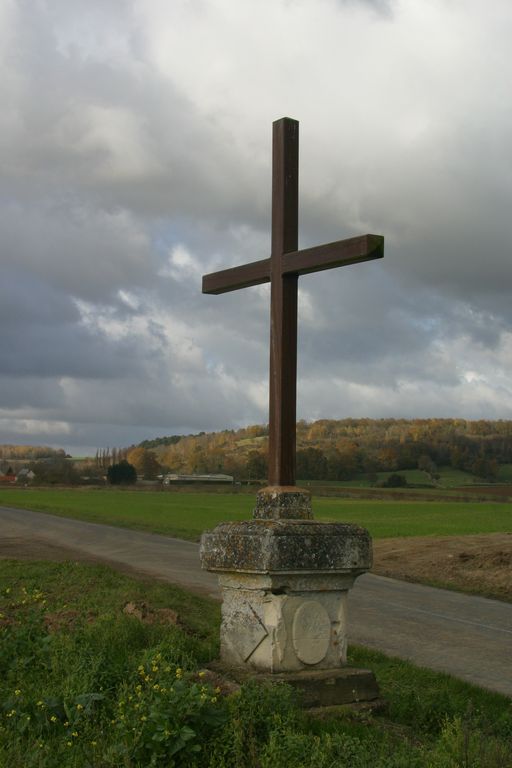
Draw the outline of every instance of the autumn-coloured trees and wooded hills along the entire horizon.
M171 435L126 448L101 448L94 458L73 462L63 450L0 446L0 463L22 462L38 482L103 481L109 468L128 463L139 478L165 472L267 476L268 427ZM512 421L464 419L321 419L297 424L300 480L376 478L377 472L420 469L431 480L438 467L453 467L488 481L499 465L512 463ZM7 464L6 464L7 466ZM5 470L4 470L5 471Z

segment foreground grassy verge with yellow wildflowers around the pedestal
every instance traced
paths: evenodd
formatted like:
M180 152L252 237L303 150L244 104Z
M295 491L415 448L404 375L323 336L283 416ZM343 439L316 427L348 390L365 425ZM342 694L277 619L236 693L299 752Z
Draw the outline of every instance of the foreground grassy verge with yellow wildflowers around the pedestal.
M151 620L123 612L142 602ZM375 671L383 714L312 719L287 686L224 696L200 672L218 651L219 606L169 585L4 561L0 614L9 768L512 766L510 700L375 652L351 661Z

